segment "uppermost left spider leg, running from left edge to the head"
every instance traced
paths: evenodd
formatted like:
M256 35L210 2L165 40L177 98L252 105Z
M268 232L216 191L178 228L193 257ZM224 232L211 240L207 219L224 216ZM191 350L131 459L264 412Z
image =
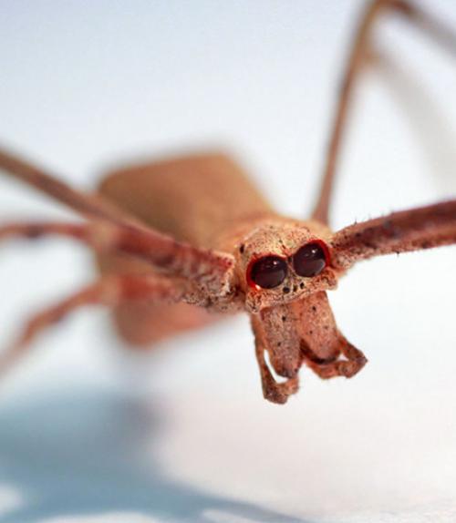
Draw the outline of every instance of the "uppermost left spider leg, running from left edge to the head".
M74 190L42 169L0 149L0 169L115 231L119 249L173 276L190 278L215 295L231 291L233 257L200 249L156 231L98 195Z

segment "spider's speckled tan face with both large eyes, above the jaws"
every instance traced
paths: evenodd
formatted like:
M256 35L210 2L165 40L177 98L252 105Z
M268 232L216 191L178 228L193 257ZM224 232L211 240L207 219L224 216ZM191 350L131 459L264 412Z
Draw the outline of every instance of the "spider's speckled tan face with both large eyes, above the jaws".
M334 288L325 232L310 223L267 223L244 238L238 265L247 309L258 312Z

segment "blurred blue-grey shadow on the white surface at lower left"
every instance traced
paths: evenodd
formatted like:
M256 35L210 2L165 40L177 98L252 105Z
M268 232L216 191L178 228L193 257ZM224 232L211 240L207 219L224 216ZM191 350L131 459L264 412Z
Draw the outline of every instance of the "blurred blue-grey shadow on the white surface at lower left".
M163 417L139 398L101 390L3 406L0 483L17 488L24 502L0 513L0 523L108 512L216 521L209 510L222 512L223 521L308 523L167 477L150 457Z

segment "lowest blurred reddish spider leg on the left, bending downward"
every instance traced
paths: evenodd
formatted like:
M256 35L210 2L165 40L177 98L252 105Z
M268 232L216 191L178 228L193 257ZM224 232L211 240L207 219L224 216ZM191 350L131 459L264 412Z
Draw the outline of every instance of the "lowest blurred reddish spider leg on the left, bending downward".
M98 304L114 307L121 303L142 300L177 303L184 298L185 292L184 283L162 276L105 276L30 318L16 342L0 353L0 375L5 374L27 353L39 333L80 307Z

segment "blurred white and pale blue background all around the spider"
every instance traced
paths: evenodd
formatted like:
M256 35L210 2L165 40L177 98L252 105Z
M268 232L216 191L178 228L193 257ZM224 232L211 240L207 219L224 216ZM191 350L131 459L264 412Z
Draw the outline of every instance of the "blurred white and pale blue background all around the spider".
M223 148L305 216L362 5L1 0L0 142L81 188ZM451 0L423 5L456 28ZM456 64L393 18L377 36L396 73L358 89L336 228L456 194ZM53 217L73 215L0 179L1 220ZM303 369L284 406L262 398L244 316L135 356L108 313L75 314L0 384L0 522L456 520L455 266L454 247L359 264L330 300L368 366ZM2 344L92 278L69 241L2 245Z

